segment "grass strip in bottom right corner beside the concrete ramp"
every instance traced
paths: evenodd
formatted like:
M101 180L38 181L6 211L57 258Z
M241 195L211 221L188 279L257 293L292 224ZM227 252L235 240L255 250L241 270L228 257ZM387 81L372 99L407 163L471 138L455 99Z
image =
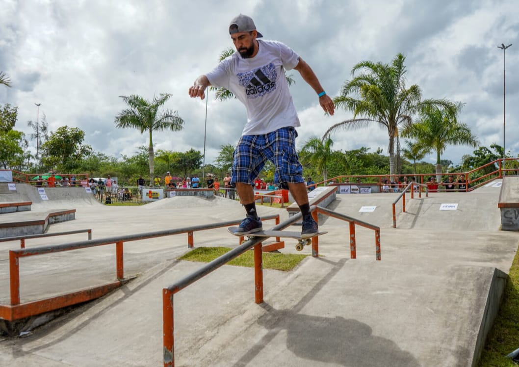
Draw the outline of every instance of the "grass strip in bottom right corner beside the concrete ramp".
M510 358L506 358L517 348L519 348L519 252L515 254L499 314L494 328L488 334L478 366L517 366Z

